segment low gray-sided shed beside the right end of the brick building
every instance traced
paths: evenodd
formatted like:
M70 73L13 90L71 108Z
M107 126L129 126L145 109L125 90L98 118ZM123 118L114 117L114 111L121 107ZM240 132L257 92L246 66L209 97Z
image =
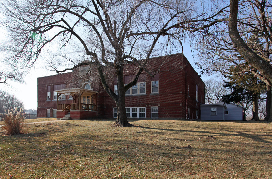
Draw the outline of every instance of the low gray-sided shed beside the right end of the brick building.
M225 104L222 101L215 104L200 104L201 120L243 120L244 108L234 103Z

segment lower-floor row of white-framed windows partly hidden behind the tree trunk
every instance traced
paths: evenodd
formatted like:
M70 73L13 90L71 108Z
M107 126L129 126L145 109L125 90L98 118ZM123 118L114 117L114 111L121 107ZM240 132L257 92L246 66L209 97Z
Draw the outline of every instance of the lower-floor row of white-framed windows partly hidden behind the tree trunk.
M117 118L117 108L113 108L113 117ZM146 118L145 107L126 107L127 118Z

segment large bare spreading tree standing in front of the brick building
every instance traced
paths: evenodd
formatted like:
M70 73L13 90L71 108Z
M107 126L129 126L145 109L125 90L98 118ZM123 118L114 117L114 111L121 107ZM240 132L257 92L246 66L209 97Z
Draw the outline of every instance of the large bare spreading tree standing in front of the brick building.
M125 92L136 84L142 72L154 76L163 65L162 62L154 66L152 57L176 51L188 29L194 31L199 25L208 27L216 23L214 17L226 9L202 13L192 0L12 0L1 6L6 17L2 25L12 34L12 45L6 44L4 48L8 60L29 68L49 44L59 42L59 50L80 47L82 61L64 58L55 60L57 63L51 66L57 72L65 72L94 65L104 90L116 103L115 125L121 127L130 126ZM190 27L191 23L195 26ZM136 69L127 85L123 81L125 64ZM59 70L59 66L65 69ZM111 89L108 72L117 79L118 95Z

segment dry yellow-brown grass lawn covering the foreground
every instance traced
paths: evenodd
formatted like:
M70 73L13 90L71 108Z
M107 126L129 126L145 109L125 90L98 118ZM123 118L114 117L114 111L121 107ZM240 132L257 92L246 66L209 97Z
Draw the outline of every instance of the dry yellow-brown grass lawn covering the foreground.
M26 124L0 129L7 178L272 178L272 124L135 120Z

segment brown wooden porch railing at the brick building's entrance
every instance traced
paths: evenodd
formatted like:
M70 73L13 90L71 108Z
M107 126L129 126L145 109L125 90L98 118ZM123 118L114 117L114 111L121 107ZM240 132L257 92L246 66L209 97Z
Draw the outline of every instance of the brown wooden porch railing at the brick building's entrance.
M69 106L69 107L68 107ZM80 109L79 109L80 107ZM57 110L86 110L96 111L96 104L72 103L72 104L58 104Z

